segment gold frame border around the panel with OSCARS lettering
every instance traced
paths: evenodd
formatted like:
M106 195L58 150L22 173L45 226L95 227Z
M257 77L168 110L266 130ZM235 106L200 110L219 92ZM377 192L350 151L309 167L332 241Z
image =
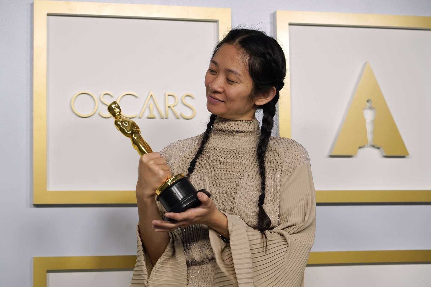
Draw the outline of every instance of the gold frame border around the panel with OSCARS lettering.
M222 39L231 9L34 0L33 14L33 204L136 204L135 191L47 190L47 15L216 22Z

